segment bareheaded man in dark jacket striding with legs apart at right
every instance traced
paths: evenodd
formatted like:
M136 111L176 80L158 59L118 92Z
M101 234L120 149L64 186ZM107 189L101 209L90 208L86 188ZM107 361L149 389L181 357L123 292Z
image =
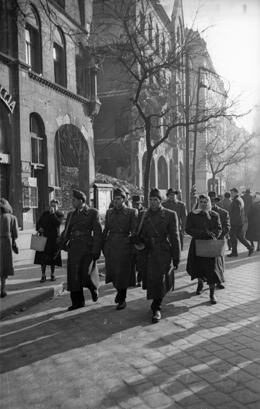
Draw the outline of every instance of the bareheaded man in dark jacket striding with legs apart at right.
M238 189L235 187L230 189L232 204L230 207L229 218L231 229L229 231L229 236L231 239L232 252L227 255L227 257L238 257L238 240L249 250L248 255L254 251L251 244L244 238L243 225L244 225L244 202L238 194Z

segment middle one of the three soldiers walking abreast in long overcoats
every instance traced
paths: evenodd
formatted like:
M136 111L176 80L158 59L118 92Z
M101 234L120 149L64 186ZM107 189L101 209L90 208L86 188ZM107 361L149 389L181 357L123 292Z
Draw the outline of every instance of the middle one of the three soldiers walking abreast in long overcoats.
M115 298L117 310L123 310L127 306L127 288L136 286L136 267L130 235L136 228L138 211L127 207L125 200L126 193L122 189L116 189L113 194L115 207L107 210L103 231L105 282L113 283L118 290Z

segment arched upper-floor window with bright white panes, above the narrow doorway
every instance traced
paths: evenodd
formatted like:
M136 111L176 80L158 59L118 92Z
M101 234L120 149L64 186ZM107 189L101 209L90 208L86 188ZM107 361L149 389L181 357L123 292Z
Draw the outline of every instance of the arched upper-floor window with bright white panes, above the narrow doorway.
M42 72L42 47L40 19L31 7L26 12L25 24L26 63L30 70L40 74Z

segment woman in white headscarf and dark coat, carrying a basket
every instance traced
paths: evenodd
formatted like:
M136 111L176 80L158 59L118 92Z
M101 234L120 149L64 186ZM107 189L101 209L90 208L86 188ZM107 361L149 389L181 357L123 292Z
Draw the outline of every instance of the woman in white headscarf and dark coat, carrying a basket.
M216 211L211 210L210 198L206 194L199 196L198 209L188 213L185 231L192 236L187 259L187 273L191 276L191 280L198 279L197 294L202 293L203 278L206 276L211 304L216 304L215 286L225 282L221 257L196 256L195 245L196 239L212 240L212 233L218 238L222 231L219 215Z

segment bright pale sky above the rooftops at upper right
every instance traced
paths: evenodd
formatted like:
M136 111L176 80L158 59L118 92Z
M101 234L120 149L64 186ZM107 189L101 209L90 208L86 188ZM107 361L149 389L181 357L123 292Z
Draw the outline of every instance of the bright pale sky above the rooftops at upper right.
M160 2L170 17L174 0ZM213 66L229 81L230 97L242 93L241 111L260 103L260 0L182 0L182 6L185 26L209 27L203 38ZM251 132L255 115L237 125Z

